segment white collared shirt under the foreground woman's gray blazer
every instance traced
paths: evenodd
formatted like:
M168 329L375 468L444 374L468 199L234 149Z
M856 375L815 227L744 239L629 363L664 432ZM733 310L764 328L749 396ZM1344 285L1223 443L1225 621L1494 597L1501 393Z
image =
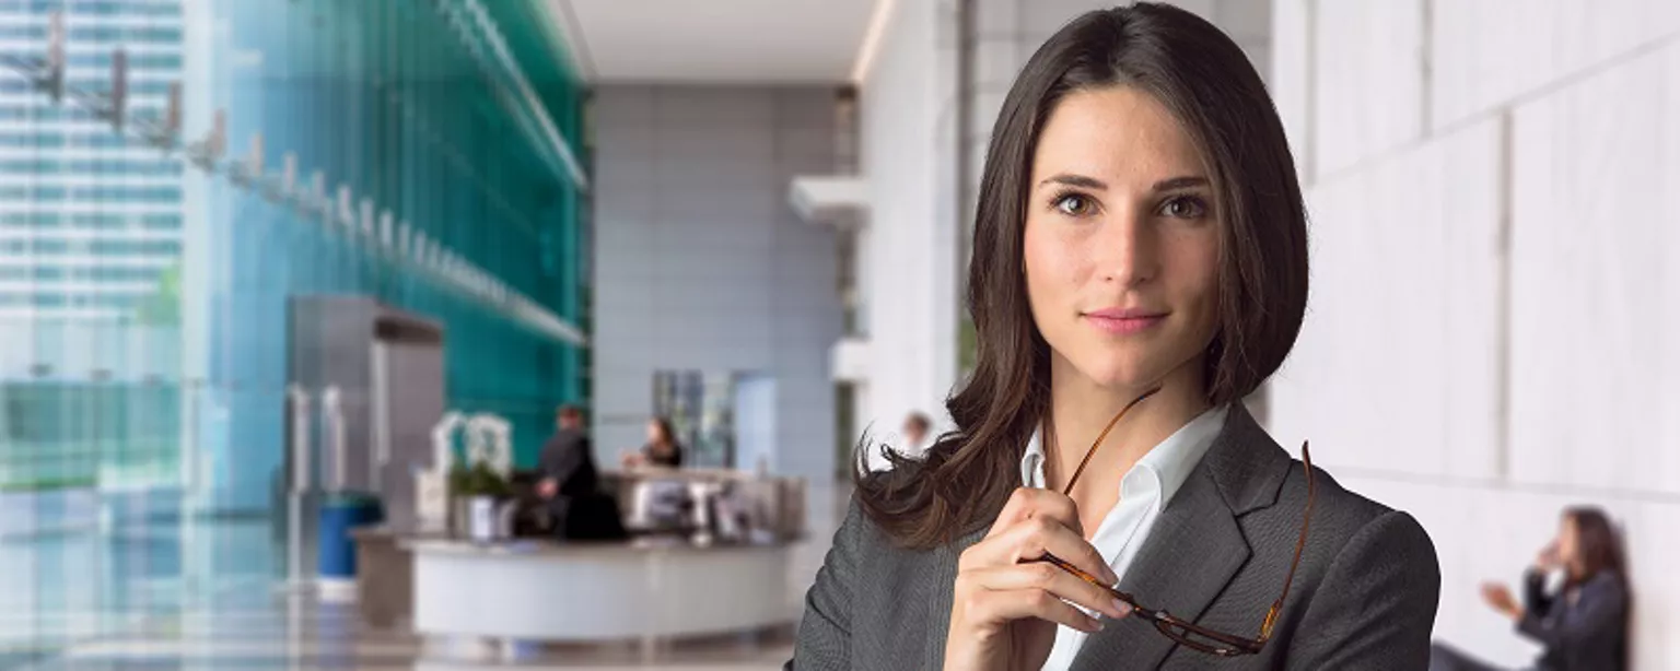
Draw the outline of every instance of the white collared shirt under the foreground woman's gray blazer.
M1109 560L1114 574L1126 577L1126 569L1137 557L1137 550L1149 538L1154 520L1173 500L1189 471L1196 468L1201 456L1213 446L1213 438L1225 428L1225 414L1230 406L1218 406L1198 414L1188 424L1168 436L1154 450L1121 478L1121 500L1109 510L1090 537L1097 554ZM1021 483L1026 486L1045 486L1045 451L1038 440L1038 431L1026 443L1026 455L1021 456ZM1045 659L1045 671L1065 671L1074 664L1074 656L1085 644L1085 632L1058 626L1055 646Z

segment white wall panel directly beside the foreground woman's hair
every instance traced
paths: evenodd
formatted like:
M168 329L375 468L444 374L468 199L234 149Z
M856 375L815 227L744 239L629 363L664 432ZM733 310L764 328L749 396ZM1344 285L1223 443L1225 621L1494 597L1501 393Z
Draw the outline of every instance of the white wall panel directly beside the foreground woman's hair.
M1488 476L1497 443L1499 126L1309 191L1312 295L1272 429L1326 465Z

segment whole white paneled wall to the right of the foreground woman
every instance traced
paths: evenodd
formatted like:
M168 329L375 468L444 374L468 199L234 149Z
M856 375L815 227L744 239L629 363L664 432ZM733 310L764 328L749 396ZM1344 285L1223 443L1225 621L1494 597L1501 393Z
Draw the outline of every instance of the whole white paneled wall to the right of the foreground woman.
M1314 285L1270 428L1423 522L1436 636L1504 666L1477 584L1603 505L1636 668L1680 668L1680 5L1275 3Z

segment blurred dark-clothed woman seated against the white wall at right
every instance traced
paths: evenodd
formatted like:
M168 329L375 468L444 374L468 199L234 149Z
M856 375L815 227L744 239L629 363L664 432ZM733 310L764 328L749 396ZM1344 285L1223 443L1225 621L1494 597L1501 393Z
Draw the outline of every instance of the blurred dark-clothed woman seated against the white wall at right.
M1556 592L1546 579L1562 570ZM1524 575L1522 601L1510 589L1488 582L1482 599L1509 617L1517 632L1544 649L1536 664L1546 671L1621 671L1628 668L1630 590L1621 540L1603 510L1564 510L1557 538L1541 550ZM1435 646L1430 669L1483 671L1483 664L1453 648Z

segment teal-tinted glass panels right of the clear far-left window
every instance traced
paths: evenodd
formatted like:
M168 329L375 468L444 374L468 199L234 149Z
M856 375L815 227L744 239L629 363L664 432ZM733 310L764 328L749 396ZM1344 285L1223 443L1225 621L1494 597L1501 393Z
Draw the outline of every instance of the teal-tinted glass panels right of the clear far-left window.
M235 158L260 133L265 169L292 153L299 190L309 191L319 173L334 200L323 216L203 179L208 226L188 231L205 245L185 257L183 314L188 322L203 317L188 324L207 344L188 349L188 367L202 366L205 381L192 414L210 505L270 500L292 295L370 295L440 320L449 406L509 418L522 463L534 461L556 404L586 401L583 346L464 292L427 260L427 248L445 250L554 319L586 322L586 178L568 171L563 156L581 164L581 87L543 64L546 96L541 107L529 106L517 82L528 91L536 84L517 60L491 55L499 29L489 34L482 27L494 23L474 22L474 5L207 5L228 27L210 52L228 57L212 59L210 84L203 99L188 96L188 114L225 109ZM563 146L548 143L543 117ZM341 190L349 193L348 225L334 221Z

